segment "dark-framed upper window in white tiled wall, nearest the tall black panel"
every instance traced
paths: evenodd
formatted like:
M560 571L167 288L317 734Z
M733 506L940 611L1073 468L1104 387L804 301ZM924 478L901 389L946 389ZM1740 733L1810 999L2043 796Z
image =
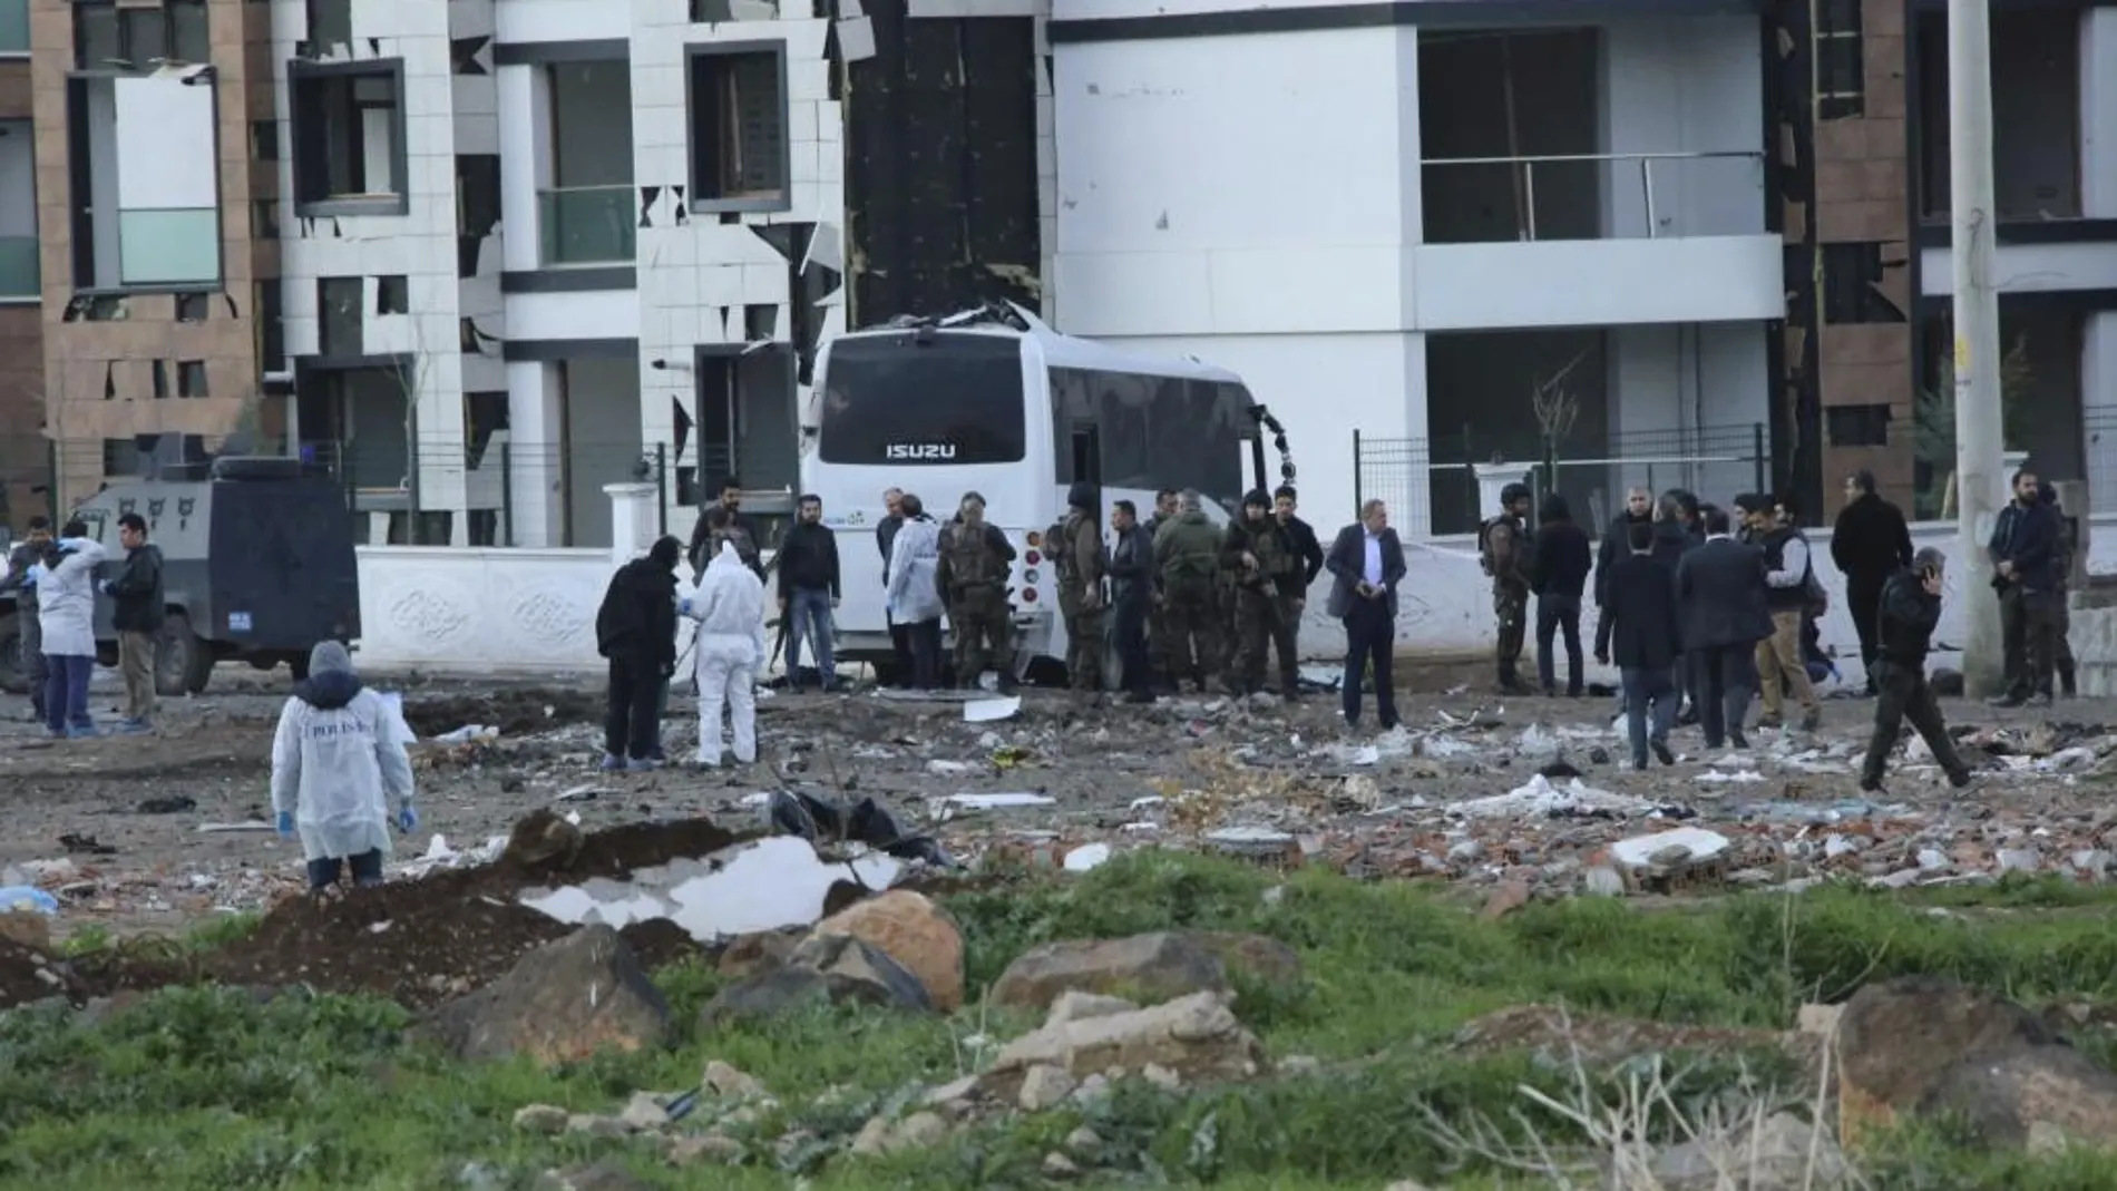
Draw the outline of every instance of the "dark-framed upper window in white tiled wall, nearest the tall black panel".
M690 207L781 212L788 207L785 49L690 57Z

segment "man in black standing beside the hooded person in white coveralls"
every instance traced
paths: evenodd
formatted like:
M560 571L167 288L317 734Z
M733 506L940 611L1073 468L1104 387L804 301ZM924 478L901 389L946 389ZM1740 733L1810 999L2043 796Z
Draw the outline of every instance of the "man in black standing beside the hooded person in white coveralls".
M646 558L618 567L595 611L595 652L610 660L603 770L656 768L661 688L675 673L675 565L682 556L684 544L663 537Z

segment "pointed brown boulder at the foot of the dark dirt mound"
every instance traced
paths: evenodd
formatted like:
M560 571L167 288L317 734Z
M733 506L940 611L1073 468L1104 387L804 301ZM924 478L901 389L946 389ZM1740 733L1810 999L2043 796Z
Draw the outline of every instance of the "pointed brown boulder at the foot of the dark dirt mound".
M610 927L582 927L497 982L434 1009L423 1032L457 1058L525 1053L546 1066L669 1041L669 1003Z

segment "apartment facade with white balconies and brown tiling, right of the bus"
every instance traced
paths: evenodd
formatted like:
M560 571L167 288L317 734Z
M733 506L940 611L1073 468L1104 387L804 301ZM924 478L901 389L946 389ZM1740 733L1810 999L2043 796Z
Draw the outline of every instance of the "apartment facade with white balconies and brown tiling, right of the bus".
M2009 436L2109 487L2113 19L1994 0ZM1052 0L1048 36L1061 326L1241 370L1327 463L1304 501L1467 531L1478 463L1554 455L1577 516L1827 520L1861 468L1941 512L1937 2Z

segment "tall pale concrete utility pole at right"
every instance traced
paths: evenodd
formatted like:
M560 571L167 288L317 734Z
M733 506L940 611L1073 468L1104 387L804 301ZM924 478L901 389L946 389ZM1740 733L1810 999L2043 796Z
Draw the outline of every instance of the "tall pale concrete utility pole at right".
M1956 548L1969 618L1965 694L2005 685L1998 601L1986 539L2003 495L1998 292L1992 288L1992 15L1988 0L1948 0L1948 184L1956 315Z

